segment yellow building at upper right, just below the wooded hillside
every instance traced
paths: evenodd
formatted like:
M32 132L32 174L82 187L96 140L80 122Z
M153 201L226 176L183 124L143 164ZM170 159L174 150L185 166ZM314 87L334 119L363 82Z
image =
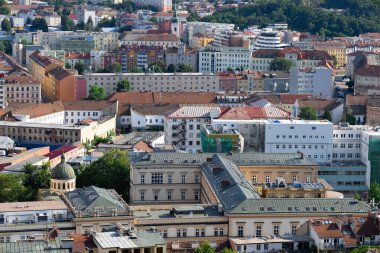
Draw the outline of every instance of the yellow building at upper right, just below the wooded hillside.
M317 42L314 44L315 50L325 51L336 58L337 64L335 67L342 67L347 64L346 48L346 43L339 41Z

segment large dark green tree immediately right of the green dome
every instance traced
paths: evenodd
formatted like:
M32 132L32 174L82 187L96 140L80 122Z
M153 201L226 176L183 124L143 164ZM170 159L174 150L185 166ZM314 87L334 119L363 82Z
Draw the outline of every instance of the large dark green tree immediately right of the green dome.
M95 185L106 189L115 189L128 201L129 160L125 151L112 149L96 162L80 168L77 173L78 187Z

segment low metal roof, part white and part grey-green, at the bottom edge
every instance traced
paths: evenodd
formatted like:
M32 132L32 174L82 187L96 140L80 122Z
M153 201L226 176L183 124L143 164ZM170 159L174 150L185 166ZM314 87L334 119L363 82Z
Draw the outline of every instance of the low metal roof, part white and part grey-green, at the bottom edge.
M153 231L135 231L136 238L131 238L129 235L119 235L118 232L103 232L96 233L94 240L103 249L119 248L119 249L133 249L133 248L148 248L159 245L165 245L165 240L161 237L159 232Z

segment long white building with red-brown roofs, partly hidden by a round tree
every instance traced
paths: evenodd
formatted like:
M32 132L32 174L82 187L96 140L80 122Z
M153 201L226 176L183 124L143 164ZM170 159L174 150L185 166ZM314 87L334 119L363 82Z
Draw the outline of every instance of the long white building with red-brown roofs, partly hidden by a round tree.
M258 71L270 71L270 63L275 58L285 58L293 62L296 68L314 68L327 62L332 66L332 57L325 51L302 50L297 47L283 49L259 49L252 53L251 68Z

